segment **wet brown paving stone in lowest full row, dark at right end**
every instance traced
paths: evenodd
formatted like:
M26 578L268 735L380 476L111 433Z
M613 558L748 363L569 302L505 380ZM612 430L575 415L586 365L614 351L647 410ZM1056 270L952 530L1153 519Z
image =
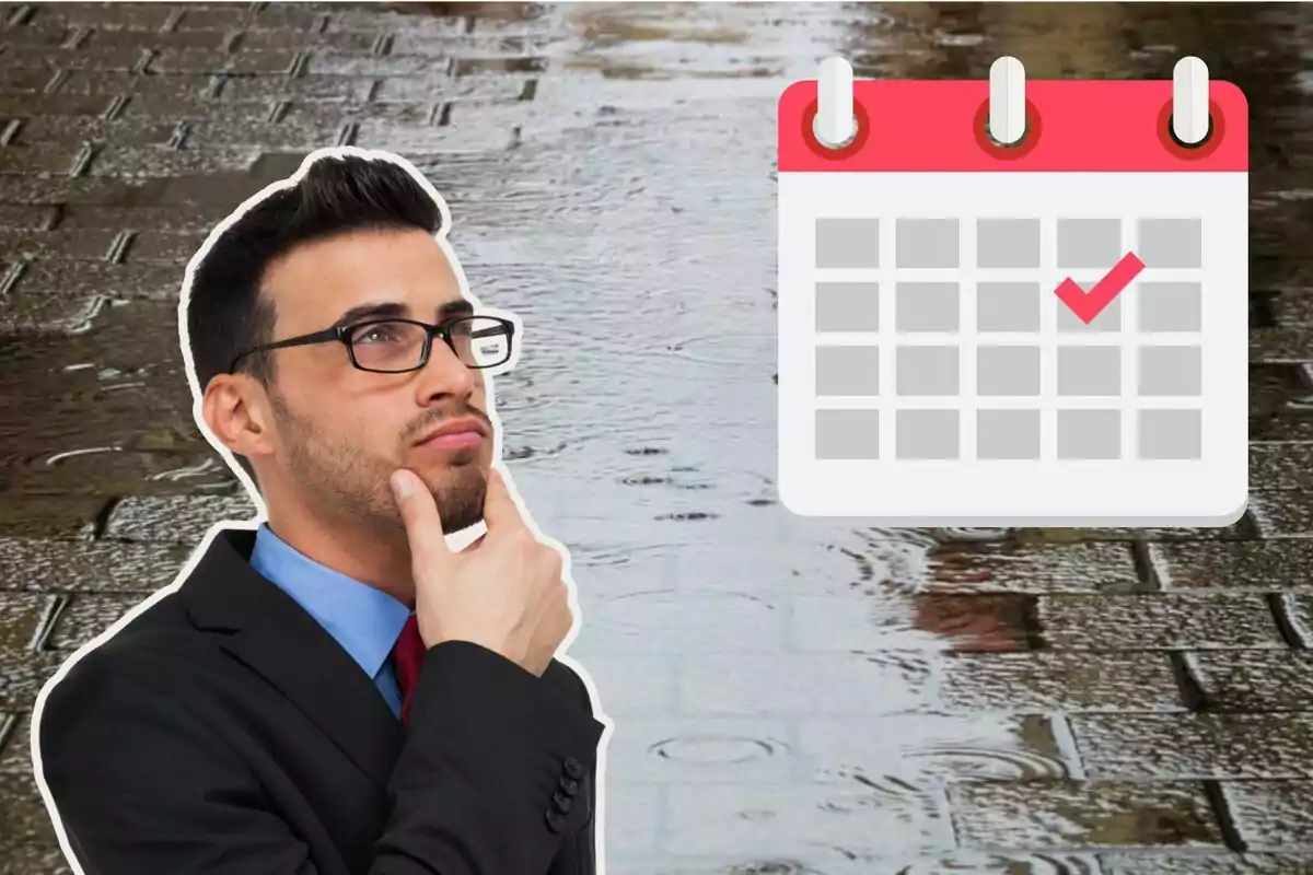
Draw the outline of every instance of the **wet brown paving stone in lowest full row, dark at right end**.
M965 847L1225 849L1194 783L982 782L952 787L949 804Z

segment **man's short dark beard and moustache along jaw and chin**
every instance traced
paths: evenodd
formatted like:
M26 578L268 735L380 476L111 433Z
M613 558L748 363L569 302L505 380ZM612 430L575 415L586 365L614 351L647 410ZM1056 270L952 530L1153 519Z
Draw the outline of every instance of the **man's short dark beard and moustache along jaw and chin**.
M389 487L393 471L402 466L366 453L343 436L324 432L307 417L295 413L277 391L270 391L270 400L288 447L289 472L306 499L322 510L373 529L404 530L400 510ZM423 417L404 430L403 438L411 434L418 437L435 422L463 415L478 416L487 422L481 412L465 407L440 417ZM407 447L410 443L403 439L399 446ZM448 458L448 464L437 471L411 468L433 496L433 504L442 518L444 534L479 522L487 492L487 479L481 470L478 453L463 450L452 453Z

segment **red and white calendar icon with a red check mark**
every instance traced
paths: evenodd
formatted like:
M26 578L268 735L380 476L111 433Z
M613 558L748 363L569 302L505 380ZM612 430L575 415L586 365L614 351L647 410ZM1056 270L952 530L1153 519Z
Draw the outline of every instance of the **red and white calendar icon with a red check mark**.
M779 102L779 488L894 525L1222 526L1247 499L1247 104L1171 77Z

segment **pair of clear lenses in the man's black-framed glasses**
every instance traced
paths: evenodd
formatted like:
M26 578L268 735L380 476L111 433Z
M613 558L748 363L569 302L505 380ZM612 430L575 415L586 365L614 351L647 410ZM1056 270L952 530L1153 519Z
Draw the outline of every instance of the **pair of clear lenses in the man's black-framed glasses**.
M356 365L365 370L406 371L419 366L427 332L407 321L376 321L348 336ZM494 367L511 357L511 336L504 324L471 316L448 325L448 346L466 367Z

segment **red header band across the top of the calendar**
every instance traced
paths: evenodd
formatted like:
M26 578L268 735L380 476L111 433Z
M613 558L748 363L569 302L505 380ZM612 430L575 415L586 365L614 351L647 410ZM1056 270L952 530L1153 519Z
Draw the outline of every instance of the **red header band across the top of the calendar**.
M1002 147L987 134L989 83L855 80L857 132L830 150L811 132L815 80L779 104L781 173L1249 171L1249 102L1208 85L1211 131L1187 147L1171 134L1171 80L1027 80L1027 132Z

